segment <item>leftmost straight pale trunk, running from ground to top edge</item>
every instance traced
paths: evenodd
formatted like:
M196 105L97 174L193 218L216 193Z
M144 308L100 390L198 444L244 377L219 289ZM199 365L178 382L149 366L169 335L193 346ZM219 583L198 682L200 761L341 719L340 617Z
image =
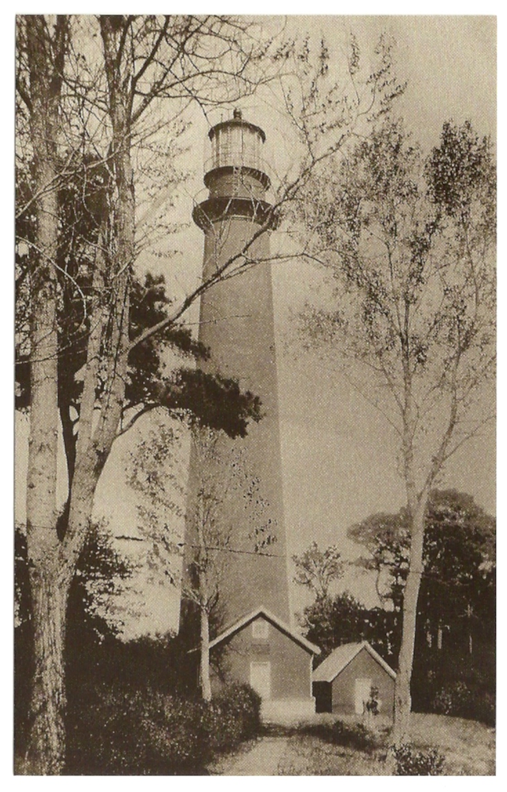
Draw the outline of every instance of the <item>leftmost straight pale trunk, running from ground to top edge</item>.
M51 39L44 17L26 17L33 188L38 196L30 284L31 403L26 498L36 668L30 703L29 757L32 771L41 774L59 773L65 754L63 641L70 581L63 578L56 534L59 416L55 259L58 243L56 139L67 24L66 17L57 17Z

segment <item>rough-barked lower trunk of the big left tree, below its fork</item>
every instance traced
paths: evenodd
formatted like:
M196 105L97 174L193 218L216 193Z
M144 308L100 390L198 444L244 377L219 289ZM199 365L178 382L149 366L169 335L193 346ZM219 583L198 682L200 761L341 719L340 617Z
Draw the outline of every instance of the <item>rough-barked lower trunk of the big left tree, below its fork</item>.
M65 760L65 619L70 577L59 554L30 569L35 671L30 703L30 772L59 775Z

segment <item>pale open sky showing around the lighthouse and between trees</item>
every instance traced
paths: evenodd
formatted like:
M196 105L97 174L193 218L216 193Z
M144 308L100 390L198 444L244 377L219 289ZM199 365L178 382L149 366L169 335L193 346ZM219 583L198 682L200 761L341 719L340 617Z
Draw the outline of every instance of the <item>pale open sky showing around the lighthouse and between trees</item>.
M266 19L266 25L280 23L281 19ZM321 35L326 37L331 68L339 62L350 31L355 33L367 58L380 32L387 31L394 37L396 72L401 80L408 81L398 112L423 150L436 145L442 123L449 119L456 123L470 119L480 134L496 139L493 17L288 17L288 35L305 31L312 41ZM269 159L277 170L284 170L291 145L276 95L267 91L249 98L242 104L242 111L246 120L264 128ZM219 117L212 117L212 123L218 120ZM193 122L189 161L195 170L176 200L182 222L188 221L194 196L203 188L198 163L204 159L208 122L197 115ZM190 224L177 236L174 246L180 246L180 252L165 274L173 291L183 295L200 275L202 233ZM147 267L151 263L144 261L141 265ZM308 295L318 295L321 286L320 274L308 265L289 261L273 267L288 553L299 553L316 540L322 546L337 544L345 558L352 561L360 548L346 539L347 528L373 512L398 511L404 490L395 466L395 439L379 421L378 414L360 402L336 371L299 347L293 316ZM189 321L196 322L195 310ZM19 449L25 436L26 426L21 422ZM96 503L97 516L108 516L113 533L121 534L131 530L136 522L135 497L118 472L126 452L124 447L116 449ZM22 451L18 453L18 464L21 469L17 478L22 480ZM493 429L456 455L441 486L471 493L479 505L495 512ZM23 501L24 493L18 488L17 508L21 515ZM341 581L344 586L366 604L374 603L371 579L360 576L354 567ZM173 625L177 611L175 593L156 582L143 584L142 588L143 615L129 626L129 634ZM305 602L303 592L293 587L292 594L293 608L300 611Z

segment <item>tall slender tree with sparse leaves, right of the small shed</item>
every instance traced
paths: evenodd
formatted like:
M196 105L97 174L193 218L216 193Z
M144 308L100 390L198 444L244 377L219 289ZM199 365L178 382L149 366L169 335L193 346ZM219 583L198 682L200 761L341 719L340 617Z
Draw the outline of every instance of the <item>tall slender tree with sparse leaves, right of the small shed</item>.
M387 117L345 158L326 163L302 210L334 300L330 310L307 310L307 343L346 360L343 375L399 440L410 564L396 743L410 714L429 493L449 457L493 417L494 179L490 141L470 124L446 124L424 160Z

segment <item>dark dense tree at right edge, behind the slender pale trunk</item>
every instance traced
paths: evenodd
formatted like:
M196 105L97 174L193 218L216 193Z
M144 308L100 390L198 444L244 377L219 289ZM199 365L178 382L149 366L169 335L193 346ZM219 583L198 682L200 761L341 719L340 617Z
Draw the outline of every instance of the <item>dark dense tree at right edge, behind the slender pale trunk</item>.
M393 611L384 611L394 622L394 664L409 568L408 524L406 508L402 508L395 515L373 515L349 529L349 537L368 549L358 562L375 570L383 581L384 600L394 604ZM482 718L480 700L494 694L494 529L494 518L470 495L456 490L430 494L411 680L419 710L433 711L440 688L461 684L475 702L467 710L468 717Z

